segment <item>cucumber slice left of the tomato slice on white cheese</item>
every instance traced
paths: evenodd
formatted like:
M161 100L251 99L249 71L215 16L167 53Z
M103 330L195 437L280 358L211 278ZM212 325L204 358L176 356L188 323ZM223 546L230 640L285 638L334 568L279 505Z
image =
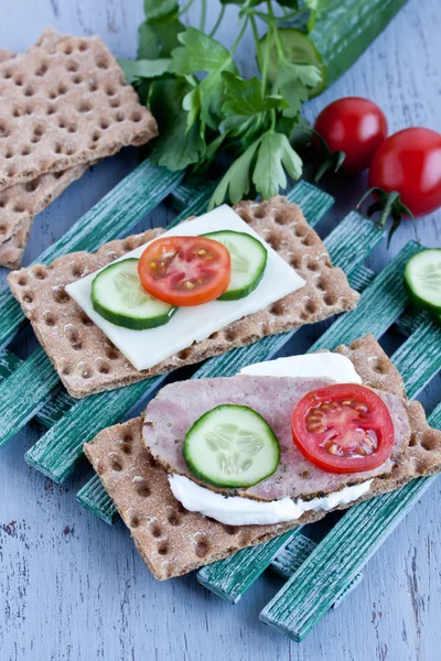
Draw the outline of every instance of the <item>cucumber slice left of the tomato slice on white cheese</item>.
M138 261L123 259L100 271L92 283L92 304L95 312L116 326L144 330L166 324L176 307L142 289Z

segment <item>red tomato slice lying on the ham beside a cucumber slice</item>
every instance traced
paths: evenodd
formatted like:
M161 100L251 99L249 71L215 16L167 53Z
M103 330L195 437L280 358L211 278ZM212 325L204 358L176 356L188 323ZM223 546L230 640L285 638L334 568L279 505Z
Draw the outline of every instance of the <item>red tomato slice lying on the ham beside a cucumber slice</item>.
M329 473L377 468L390 457L395 440L385 402L356 383L308 392L292 411L291 429L302 455Z

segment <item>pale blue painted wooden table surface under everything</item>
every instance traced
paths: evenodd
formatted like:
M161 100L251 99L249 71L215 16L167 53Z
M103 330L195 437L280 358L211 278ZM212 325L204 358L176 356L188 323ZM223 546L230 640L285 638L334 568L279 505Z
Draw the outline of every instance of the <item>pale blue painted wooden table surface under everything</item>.
M136 51L141 0L1 0L0 46L23 51L52 24L77 35L99 34L119 57ZM209 2L209 19L217 2ZM232 43L236 9L228 8L219 35ZM186 20L195 22L192 13ZM357 64L306 107L311 119L329 101L366 96L387 113L390 130L412 124L441 130L441 4L410 0ZM247 47L239 52L249 71ZM25 262L60 237L136 163L126 150L108 159L37 217ZM364 180L334 188L335 209L320 226L325 236L355 205ZM170 212L144 219L163 224ZM441 245L441 212L419 221L421 241ZM413 238L410 224L389 251L369 259L380 270ZM2 282L6 272L1 272ZM375 311L373 311L375 314ZM295 336L306 348L323 326ZM387 347L400 342L385 338ZM35 346L28 330L12 345L20 356ZM440 399L440 378L421 401ZM0 453L0 659L1 661L435 661L441 658L441 480L387 540L362 585L331 611L301 644L271 631L258 614L280 586L266 574L236 606L201 588L193 575L157 583L118 522L106 525L75 502L90 475L87 466L58 487L29 468L24 452L41 430L28 427Z

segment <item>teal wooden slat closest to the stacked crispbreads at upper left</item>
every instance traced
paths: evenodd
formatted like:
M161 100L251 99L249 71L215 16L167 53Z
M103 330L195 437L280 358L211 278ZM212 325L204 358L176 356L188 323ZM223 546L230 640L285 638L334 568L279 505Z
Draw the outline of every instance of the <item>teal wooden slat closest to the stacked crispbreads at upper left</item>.
M35 263L49 264L76 250L96 250L127 232L178 186L182 176L182 173L172 173L144 161L50 246ZM0 347L3 347L25 322L9 288L0 292Z

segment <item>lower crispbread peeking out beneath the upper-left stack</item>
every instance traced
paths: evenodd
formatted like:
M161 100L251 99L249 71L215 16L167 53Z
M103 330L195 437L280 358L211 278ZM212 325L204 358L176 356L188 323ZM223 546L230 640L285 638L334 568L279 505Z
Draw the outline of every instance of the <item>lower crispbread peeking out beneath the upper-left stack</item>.
M0 266L20 269L34 216L84 173L84 167L49 172L0 192Z

